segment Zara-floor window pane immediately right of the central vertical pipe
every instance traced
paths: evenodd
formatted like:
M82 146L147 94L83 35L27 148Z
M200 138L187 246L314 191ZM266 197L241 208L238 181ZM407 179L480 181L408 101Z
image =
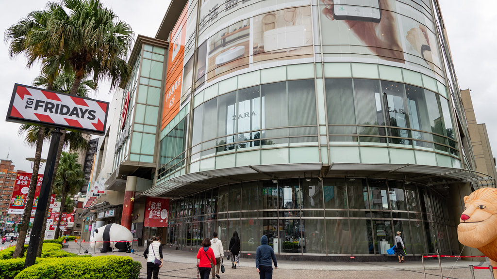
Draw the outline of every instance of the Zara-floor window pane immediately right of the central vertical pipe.
M355 124L352 79L327 78L326 104L329 124Z

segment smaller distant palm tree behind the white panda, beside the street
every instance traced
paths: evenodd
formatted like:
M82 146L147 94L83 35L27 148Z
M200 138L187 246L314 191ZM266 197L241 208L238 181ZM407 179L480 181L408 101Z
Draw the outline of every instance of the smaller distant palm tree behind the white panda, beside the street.
M66 208L66 199L77 194L83 187L84 172L81 164L78 163L78 154L62 152L59 168L55 175L54 191L61 197L61 213ZM55 236L59 236L60 218L55 229Z

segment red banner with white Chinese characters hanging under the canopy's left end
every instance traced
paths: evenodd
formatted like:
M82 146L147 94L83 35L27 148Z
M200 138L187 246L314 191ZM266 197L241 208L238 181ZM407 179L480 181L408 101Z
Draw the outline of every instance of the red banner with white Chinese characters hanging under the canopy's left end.
M169 199L147 197L144 227L167 227Z

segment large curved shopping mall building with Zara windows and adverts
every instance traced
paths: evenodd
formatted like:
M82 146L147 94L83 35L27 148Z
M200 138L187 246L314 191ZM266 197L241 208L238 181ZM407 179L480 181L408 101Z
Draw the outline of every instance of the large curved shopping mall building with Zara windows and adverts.
M172 0L114 96L87 234L371 257L401 231L408 255L459 253L462 197L496 171L477 170L438 1L329 2Z

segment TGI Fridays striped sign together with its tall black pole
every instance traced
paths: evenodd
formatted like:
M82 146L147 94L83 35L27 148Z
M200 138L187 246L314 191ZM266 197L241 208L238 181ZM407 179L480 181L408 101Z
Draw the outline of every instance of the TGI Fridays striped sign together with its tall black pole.
M6 121L29 123L55 128L52 132L44 179L41 184L38 207L34 216L30 241L24 267L32 266L36 260L43 215L47 208L57 160L57 149L62 135L61 129L78 130L89 134L103 135L107 124L108 102L63 94L27 85L15 84L8 107Z

